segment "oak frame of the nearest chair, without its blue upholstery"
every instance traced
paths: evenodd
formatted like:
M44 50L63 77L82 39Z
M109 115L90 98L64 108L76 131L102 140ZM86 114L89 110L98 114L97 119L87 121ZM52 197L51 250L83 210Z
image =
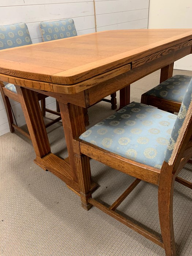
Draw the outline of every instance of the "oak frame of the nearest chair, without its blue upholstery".
M80 139L74 140L74 147L76 149L75 162L80 184L82 207L89 210L92 206L96 206L106 214L164 248L166 256L176 256L173 230L173 188L174 181L177 181L192 189L191 182L178 177L178 173L192 155L192 117L189 120L181 144L178 146L178 152L174 162L170 165L164 161L161 169L121 157ZM110 207L106 207L97 200L92 199L90 192L91 169L89 158L93 158L98 162L136 178L129 188ZM153 233L115 211L141 180L158 185L158 208L162 238L155 236Z

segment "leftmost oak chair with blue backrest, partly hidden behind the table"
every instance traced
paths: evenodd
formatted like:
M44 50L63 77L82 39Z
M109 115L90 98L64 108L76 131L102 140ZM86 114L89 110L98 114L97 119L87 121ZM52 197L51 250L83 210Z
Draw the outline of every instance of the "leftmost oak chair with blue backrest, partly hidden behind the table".
M29 34L29 30L25 23L16 23L12 25L0 26L0 49L1 50L18 47L18 46L30 45L30 44L32 44L32 41ZM10 83L3 83L0 81L0 92L5 105L5 110L8 117L10 131L14 132L15 129L17 129L19 132L21 132L23 135L25 135L27 138L30 139L30 135L25 131L23 131L22 128L18 127L16 120L15 120L16 124L14 123L15 116L14 116L14 113L12 112L9 98L14 99L14 101L16 102L20 102L18 94L16 92L15 85ZM41 101L41 111L43 116L45 116L45 112L49 112L59 116L53 121L50 121L49 123L47 123L45 126L49 127L50 125L61 120L60 113L47 109L45 107L45 98L48 96L40 93L38 93L37 95L38 95L39 101Z

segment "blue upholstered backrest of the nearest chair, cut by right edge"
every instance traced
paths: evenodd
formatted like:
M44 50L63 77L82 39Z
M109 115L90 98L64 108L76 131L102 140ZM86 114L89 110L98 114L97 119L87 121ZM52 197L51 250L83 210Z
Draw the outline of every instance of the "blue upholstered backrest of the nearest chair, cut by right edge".
M192 127L189 126L192 126L192 80L188 85L187 91L181 103L181 108L167 146L165 161L169 163L169 165L173 165L174 160L177 157L177 153L181 150L181 147L184 148L186 146L185 142L183 141L186 133L188 131L192 133ZM190 137L191 135L189 136L189 139Z

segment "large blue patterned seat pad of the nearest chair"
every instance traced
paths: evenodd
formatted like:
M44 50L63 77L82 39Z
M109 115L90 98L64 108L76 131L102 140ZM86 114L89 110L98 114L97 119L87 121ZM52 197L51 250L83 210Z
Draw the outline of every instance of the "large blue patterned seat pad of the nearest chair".
M132 102L88 129L80 139L160 169L176 118L174 114Z

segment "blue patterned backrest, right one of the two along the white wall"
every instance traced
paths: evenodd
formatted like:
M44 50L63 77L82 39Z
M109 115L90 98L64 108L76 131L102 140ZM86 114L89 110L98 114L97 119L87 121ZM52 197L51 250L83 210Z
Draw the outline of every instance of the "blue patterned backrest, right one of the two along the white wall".
M73 19L44 21L39 26L44 42L77 35Z

